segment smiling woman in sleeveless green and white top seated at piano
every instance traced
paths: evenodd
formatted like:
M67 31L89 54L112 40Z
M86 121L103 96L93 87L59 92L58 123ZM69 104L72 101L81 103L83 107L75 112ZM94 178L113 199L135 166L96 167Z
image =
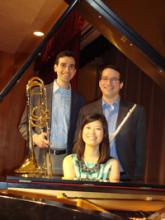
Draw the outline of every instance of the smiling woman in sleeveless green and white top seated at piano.
M118 182L119 163L110 158L107 122L103 115L88 115L81 126L74 154L63 160L64 179Z

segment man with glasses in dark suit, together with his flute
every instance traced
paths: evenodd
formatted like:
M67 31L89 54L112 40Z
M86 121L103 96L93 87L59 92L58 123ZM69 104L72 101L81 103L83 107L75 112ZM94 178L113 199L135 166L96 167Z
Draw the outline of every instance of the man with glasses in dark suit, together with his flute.
M106 65L102 68L99 87L102 98L81 108L77 133L85 115L104 114L108 122L110 156L120 162L121 180L142 181L146 151L144 108L121 99L123 80L115 66Z

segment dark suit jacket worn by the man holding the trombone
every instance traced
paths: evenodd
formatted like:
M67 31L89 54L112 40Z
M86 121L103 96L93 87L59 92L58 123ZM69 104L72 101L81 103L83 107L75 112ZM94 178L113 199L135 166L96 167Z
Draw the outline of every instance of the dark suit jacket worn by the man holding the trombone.
M47 107L50 112L50 115L52 113L52 93L53 93L53 83L46 85L46 93L47 93ZM38 103L38 98L33 98L34 106ZM74 133L76 129L76 122L79 114L80 108L84 105L84 99L75 93L73 90L71 90L71 111L70 111L70 127L68 132L68 142L67 142L67 153L71 153L72 147L73 147L73 138ZM22 115L20 124L19 124L19 131L22 134L22 136L27 140L27 107L25 108L25 111ZM51 129L51 118L49 120L49 127ZM35 129L35 132L38 132L37 129Z

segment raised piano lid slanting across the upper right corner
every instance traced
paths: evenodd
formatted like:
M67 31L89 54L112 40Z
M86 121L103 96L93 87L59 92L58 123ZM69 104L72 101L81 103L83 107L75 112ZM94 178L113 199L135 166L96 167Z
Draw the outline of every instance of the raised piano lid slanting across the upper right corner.
M79 13L165 89L165 4L162 0L84 0Z

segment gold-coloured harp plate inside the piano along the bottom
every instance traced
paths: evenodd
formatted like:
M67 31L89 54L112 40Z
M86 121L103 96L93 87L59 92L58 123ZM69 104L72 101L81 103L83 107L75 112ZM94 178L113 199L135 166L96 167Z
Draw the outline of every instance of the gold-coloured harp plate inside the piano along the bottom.
M82 201L87 201L100 210L127 210L127 211L158 211L165 207L164 195L139 195L139 194L121 194L111 192L84 192L69 190L43 190L27 188L8 188L8 193L27 198L42 198L51 201L62 200L70 201L77 206L87 205ZM59 199L60 200L60 199ZM91 205L91 206L92 206Z

